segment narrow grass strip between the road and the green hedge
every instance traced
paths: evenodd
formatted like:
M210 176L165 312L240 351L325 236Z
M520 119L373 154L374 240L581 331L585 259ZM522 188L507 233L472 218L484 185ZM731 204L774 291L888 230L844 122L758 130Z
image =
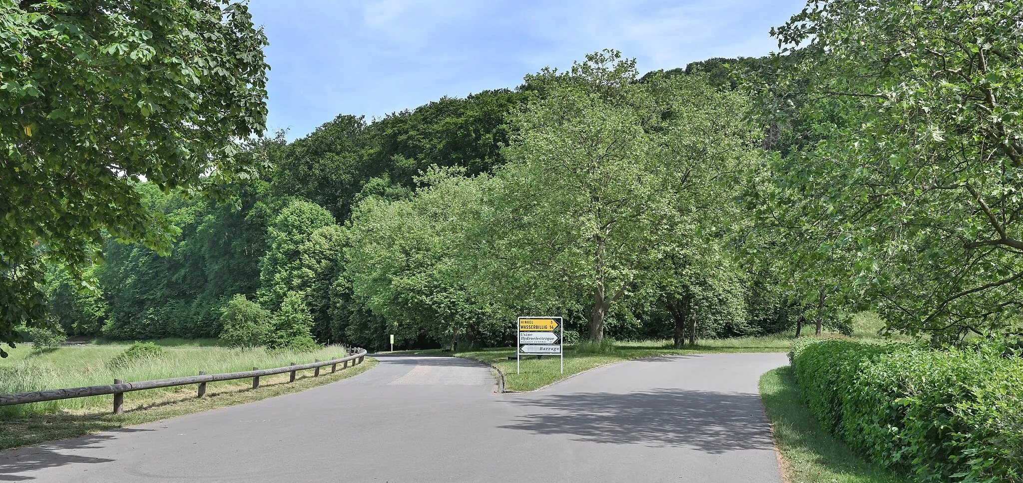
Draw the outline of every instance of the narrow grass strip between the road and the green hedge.
M782 470L789 483L909 483L911 480L856 456L828 433L803 404L792 367L760 378L760 397L771 421Z

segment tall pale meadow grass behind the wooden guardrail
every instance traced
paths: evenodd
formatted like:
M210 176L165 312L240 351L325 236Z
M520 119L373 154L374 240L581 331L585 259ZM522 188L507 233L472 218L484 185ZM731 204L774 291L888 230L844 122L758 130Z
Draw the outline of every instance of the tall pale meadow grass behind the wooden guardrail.
M98 386L112 384L115 379L135 382L180 378L196 376L199 370L220 374L252 370L253 367L282 367L292 362L308 363L314 359L327 360L347 355L341 346L302 353L269 351L263 348L244 351L221 348L176 348L167 349L153 358L139 359L125 367L112 367L110 359L122 353L125 347L61 347L44 354L34 354L31 350L18 347L10 351L10 357L0 359L0 393ZM210 386L220 384L231 384L231 382L210 383ZM151 389L141 393L171 392L175 389ZM15 418L28 412L76 410L112 404L113 396L105 395L2 406L0 419Z

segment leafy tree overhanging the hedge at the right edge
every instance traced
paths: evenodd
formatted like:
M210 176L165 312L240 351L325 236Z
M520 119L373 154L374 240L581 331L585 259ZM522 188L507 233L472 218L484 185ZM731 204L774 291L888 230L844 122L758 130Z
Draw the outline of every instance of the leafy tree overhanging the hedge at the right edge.
M892 330L994 335L1023 308L1021 13L1011 2L814 1L775 31L799 54L773 89L814 100L782 112L833 129L776 159L774 184L795 194L802 232L843 254L832 278L854 283ZM830 121L836 108L846 122Z

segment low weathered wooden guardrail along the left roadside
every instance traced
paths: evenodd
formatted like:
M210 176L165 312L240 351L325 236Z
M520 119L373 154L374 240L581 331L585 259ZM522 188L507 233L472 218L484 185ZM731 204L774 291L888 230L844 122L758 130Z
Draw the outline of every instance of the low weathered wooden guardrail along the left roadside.
M16 393L16 394L0 394L0 406L113 394L114 413L120 414L121 412L124 411L124 393L126 392L197 384L198 397L203 397L203 395L206 394L207 383L214 383L217 381L231 381L235 379L249 379L249 378L252 378L253 389L255 389L259 387L259 378L262 376L273 376L276 374L291 372L292 374L291 381L294 382L295 372L298 370L316 369L316 371L313 374L313 377L317 377L319 376L320 367L323 367L324 365L330 366L330 372L336 372L338 370L338 364L343 364L341 368L344 369L348 367L349 362L351 362L352 366L354 367L356 364L362 363L362 360L366 356L366 351L365 349L356 349L353 352L354 353L352 355L349 355L348 357L342 357L340 359L336 358L324 361L316 360L316 362L312 362L309 364L293 363L292 365L288 365L286 367L275 367L272 369L260 369L259 367L253 367L253 370L246 370L243 372L225 372L225 374L210 374L210 375L201 371L198 376L158 379L154 381L138 381L134 383L126 383L120 379L115 379L114 384L108 384L105 386L86 386L83 388L53 389L50 391L35 391L35 392Z

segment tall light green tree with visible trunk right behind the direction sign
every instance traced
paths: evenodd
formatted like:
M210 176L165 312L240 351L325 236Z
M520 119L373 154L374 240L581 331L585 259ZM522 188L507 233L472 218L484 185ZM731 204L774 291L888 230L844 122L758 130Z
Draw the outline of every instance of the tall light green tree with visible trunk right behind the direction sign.
M727 223L728 173L753 138L739 95L696 77L636 77L634 61L605 51L528 78L545 97L515 120L487 202L506 281L589 298L594 343L614 304L666 275L665 257Z

